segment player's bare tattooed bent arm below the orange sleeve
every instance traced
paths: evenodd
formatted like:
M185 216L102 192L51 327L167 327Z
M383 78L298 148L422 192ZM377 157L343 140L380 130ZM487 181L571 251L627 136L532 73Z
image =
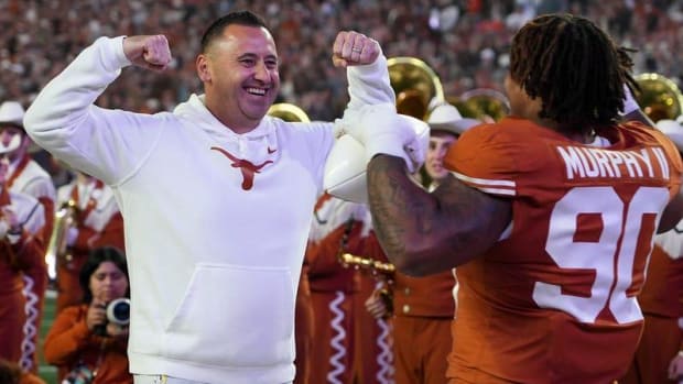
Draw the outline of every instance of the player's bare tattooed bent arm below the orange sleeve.
M378 155L368 165L375 231L389 260L413 276L433 274L480 255L512 217L508 200L448 177L432 194L409 179L405 162Z

